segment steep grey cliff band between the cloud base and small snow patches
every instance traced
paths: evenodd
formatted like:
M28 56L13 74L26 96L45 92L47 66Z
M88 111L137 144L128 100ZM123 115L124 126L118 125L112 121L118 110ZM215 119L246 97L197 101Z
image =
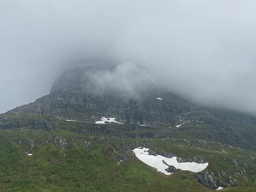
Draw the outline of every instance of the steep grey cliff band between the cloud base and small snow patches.
M103 116L114 117L124 124L154 126L178 125L182 122L220 123L209 112L161 90L131 95L119 91L90 92L80 86L73 86L13 111L53 115L61 119L83 119L87 122L95 122Z

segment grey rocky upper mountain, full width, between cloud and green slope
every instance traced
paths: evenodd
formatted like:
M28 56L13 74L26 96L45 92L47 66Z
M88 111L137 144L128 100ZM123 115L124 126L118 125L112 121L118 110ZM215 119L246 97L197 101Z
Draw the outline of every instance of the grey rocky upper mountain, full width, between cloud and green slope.
M123 125L95 124L102 117L116 118ZM233 129L226 124L225 118L235 116L221 117L158 88L131 94L72 86L3 114L0 116L0 127L5 130L65 129L78 133L111 134L119 138L175 138L177 135L181 137L189 134L189 137L197 139L256 150L253 128L244 132L240 120L236 122L236 118L232 118L232 122L240 127ZM246 118L243 119L246 121ZM250 121L246 121L247 124L252 126L253 117L248 119ZM70 124L66 120L76 122Z

